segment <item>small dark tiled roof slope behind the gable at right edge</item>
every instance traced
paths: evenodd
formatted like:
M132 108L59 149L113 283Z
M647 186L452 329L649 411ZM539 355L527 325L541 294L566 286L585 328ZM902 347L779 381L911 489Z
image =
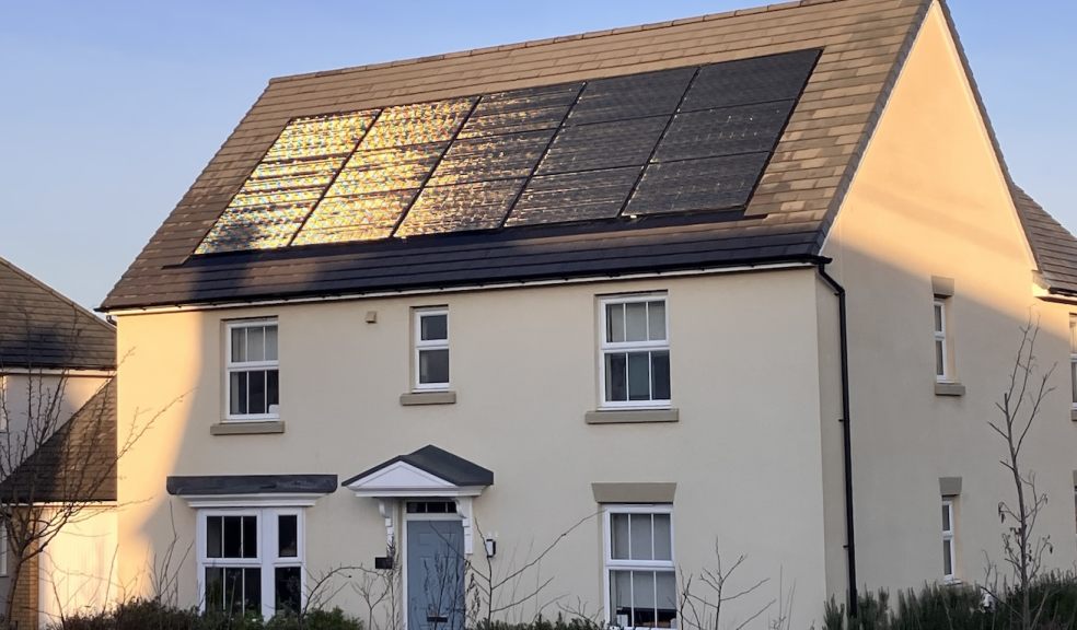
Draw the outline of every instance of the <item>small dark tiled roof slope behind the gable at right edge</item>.
M1052 293L1077 295L1077 238L1028 192L1014 186L1014 203L1037 269Z

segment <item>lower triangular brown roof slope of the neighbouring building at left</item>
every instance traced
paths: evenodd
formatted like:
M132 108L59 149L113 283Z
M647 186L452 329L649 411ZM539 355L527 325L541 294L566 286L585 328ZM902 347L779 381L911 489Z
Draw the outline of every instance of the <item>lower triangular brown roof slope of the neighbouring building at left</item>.
M30 448L33 439L30 439ZM116 500L116 382L108 380L81 409L3 481L0 502Z

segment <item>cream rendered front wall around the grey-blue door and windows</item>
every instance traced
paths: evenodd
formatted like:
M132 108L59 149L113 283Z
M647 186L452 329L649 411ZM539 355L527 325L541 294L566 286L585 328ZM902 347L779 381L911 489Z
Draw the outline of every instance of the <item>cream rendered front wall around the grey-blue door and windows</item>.
M669 293L680 422L586 424L598 401L598 296L659 290ZM484 532L497 533L497 571L524 564L583 520L524 578L554 578L543 604L579 597L591 611L604 605L601 525L588 518L599 508L591 482L674 481L680 568L713 567L717 537L727 562L748 555L733 582L772 580L727 619L776 598L780 576L786 597L796 587L792 626L808 627L827 593L820 409L833 407L819 393L815 302L815 272L800 269L120 316L118 351L129 353L120 427L136 411L151 418L182 397L120 463L120 581L128 593L149 592L169 546L192 544L195 511L165 493L166 475L328 472L343 481L436 444L495 472L475 515ZM450 311L458 402L402 407L409 310L441 304ZM368 311L377 324L364 323ZM279 320L286 431L210 435L222 415L223 322L257 316ZM306 526L315 575L370 567L384 553L371 499L338 490L308 511ZM181 576L178 600L195 603L193 561L177 558L167 571ZM350 588L333 603L360 609ZM507 617L534 611L529 603Z

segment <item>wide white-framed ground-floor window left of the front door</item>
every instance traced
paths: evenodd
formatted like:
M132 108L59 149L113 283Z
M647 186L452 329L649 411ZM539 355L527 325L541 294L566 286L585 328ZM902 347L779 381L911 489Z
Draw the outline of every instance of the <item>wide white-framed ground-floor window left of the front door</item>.
M303 604L303 512L213 509L198 513L198 579L207 610L299 611Z

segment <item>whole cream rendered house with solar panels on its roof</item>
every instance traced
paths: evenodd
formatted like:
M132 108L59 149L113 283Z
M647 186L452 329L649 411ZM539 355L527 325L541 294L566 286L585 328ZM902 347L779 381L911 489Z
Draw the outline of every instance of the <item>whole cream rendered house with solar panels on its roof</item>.
M728 619L794 592L761 626L975 581L987 423L1030 316L1070 362L1075 270L938 0L275 79L102 305L120 416L189 393L120 463L120 579L268 616L382 575L409 630L691 626L716 545L766 581ZM1024 446L1051 567L1062 372Z

